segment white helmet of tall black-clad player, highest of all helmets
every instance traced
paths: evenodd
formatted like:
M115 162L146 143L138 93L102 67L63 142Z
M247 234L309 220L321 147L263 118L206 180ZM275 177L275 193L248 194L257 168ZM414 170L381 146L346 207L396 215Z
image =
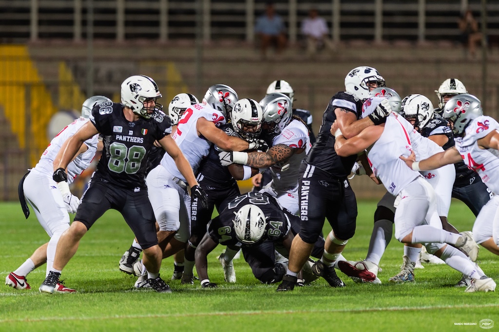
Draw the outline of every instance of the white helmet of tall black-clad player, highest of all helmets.
M378 88L385 86L385 79L375 68L367 66L353 68L345 76L345 91L364 101L369 98L371 91L369 82L376 83Z

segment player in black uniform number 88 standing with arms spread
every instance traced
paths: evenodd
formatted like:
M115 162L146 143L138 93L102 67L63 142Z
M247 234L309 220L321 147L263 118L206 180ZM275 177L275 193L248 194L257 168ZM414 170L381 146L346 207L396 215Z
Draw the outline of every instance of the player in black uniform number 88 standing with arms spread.
M65 168L81 144L100 133L104 152L85 191L80 207L69 229L57 244L51 271L40 286L40 292L53 293L64 266L76 253L80 239L94 222L110 208L121 212L144 251L148 281L157 292L171 292L161 279L161 249L155 232L154 213L145 182L147 157L158 141L175 161L174 167L192 187L192 194L203 197L188 160L170 136L170 118L157 103L161 93L156 82L145 75L134 75L121 84L121 104L104 102L92 109L92 116L73 135L58 163L53 179L67 187ZM178 169L177 169L178 167Z

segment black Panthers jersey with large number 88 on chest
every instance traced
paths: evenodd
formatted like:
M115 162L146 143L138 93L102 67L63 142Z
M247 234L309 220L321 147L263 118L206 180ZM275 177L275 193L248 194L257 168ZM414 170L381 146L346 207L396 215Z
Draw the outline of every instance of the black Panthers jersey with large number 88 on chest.
M161 113L155 118L129 122L123 108L122 104L104 102L92 110L90 121L104 143L94 177L122 188L146 188L149 153L155 140L171 134L171 121Z

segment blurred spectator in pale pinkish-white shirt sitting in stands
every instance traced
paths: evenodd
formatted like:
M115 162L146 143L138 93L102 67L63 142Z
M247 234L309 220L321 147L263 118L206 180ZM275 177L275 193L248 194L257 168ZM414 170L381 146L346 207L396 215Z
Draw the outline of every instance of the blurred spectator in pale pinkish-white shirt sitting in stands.
M307 56L314 56L317 49L323 47L331 51L334 50L334 44L329 39L329 28L326 20L319 17L317 9L311 8L308 12L308 17L301 23L301 33L307 40Z

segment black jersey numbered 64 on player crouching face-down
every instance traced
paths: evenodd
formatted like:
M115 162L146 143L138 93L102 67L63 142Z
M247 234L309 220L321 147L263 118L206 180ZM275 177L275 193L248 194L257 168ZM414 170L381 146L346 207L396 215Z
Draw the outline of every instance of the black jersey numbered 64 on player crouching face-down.
M208 234L213 241L225 246L244 246L236 237L233 221L239 209L246 204L257 205L266 217L267 231L263 235L263 240L281 241L287 235L291 224L275 198L266 193L250 191L234 198L222 213L210 222Z

